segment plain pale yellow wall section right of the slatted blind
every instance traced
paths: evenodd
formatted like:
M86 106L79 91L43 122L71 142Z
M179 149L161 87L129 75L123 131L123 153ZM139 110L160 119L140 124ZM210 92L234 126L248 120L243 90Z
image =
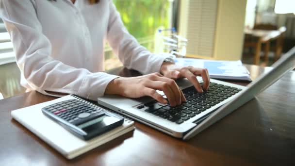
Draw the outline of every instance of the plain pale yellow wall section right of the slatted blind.
M240 60L244 43L246 0L218 0L213 58Z

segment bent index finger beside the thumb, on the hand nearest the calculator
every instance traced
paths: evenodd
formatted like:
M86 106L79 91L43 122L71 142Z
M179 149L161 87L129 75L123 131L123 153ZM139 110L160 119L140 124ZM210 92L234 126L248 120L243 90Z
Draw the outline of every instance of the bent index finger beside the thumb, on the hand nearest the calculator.
M163 81L147 81L144 85L146 87L148 87L148 88L163 91L164 94L166 95L170 105L171 106L176 106L176 104L177 104L176 101L175 101L175 96L176 95L174 94L174 91L170 88L168 83L163 82Z

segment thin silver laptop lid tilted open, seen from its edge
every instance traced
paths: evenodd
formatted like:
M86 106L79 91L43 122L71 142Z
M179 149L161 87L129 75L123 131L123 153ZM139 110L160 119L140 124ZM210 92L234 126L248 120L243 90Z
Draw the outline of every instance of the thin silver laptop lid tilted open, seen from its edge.
M250 83L245 90L242 91L235 99L224 104L212 113L208 118L202 121L196 128L187 133L183 139L190 139L197 133L200 133L213 123L228 115L235 109L239 108L247 101L253 99L256 95L261 93L264 89L279 80L284 74L295 67L295 47L284 54L268 73L262 74L254 82Z

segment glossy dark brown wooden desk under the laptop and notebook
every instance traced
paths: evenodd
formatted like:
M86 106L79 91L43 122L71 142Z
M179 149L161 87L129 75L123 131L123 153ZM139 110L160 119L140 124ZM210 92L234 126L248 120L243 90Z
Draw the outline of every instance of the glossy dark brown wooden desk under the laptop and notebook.
M269 70L258 66L247 68L253 79ZM110 72L124 76L138 74L127 69ZM10 115L14 109L54 98L35 91L21 94L0 100L0 166L294 166L294 87L295 72L290 72L256 99L188 141L181 141L136 122L133 133L127 133L71 161Z

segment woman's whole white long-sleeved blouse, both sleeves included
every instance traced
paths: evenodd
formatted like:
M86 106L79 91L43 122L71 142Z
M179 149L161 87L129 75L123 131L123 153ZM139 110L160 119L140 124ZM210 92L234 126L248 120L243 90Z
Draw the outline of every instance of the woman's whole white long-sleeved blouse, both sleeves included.
M124 66L142 74L159 72L164 56L140 46L124 27L112 0L0 0L21 71L21 84L97 100L110 75L103 68L107 41Z

